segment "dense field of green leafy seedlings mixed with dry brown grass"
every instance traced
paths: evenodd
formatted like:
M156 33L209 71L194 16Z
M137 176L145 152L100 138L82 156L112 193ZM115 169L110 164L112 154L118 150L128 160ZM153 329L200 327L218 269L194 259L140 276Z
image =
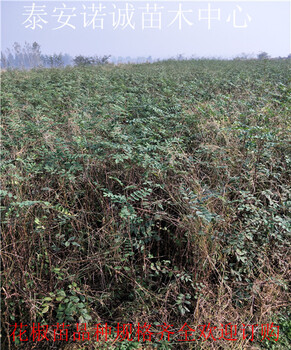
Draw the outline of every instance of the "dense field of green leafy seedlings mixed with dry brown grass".
M284 60L2 73L3 348L15 322L177 328L280 314L288 76ZM254 346L288 347L287 316L274 322L282 339Z

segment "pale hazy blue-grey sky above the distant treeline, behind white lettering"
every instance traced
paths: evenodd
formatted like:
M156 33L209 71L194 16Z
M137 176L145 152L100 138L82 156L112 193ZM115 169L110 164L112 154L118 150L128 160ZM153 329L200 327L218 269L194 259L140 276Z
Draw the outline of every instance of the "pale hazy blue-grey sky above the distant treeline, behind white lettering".
M289 0L1 0L1 50L36 41L43 53L72 56L285 57L290 8Z

